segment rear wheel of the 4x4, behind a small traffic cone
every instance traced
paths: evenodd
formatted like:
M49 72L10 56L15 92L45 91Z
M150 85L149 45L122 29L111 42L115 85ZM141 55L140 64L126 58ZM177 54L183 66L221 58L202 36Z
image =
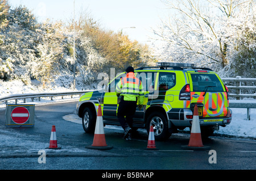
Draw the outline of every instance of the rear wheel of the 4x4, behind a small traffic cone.
M166 116L160 112L152 112L147 118L147 132L153 126L155 132L155 140L166 140L171 136L168 131L168 124Z

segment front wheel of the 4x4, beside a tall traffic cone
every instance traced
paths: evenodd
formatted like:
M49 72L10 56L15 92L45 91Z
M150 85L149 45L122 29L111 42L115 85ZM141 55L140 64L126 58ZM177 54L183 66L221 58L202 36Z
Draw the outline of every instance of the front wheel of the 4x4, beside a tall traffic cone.
M96 125L96 115L93 113L92 108L85 107L82 113L82 128L86 133L93 133Z

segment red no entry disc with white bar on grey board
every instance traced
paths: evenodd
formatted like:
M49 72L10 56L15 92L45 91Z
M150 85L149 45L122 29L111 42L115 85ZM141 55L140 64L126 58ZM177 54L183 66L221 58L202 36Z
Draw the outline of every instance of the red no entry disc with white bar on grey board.
M30 118L30 112L26 107L16 107L11 111L11 119L16 124L24 124Z

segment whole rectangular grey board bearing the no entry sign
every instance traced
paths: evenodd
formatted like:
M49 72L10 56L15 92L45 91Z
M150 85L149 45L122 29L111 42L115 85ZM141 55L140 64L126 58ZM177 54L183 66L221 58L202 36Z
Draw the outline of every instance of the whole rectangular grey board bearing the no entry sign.
M7 126L34 126L35 105L7 104Z

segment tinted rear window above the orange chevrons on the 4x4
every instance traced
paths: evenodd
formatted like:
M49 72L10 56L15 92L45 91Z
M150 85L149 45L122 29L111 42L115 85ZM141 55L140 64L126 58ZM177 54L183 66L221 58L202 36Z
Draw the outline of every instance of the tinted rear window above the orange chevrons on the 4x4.
M191 73L193 92L223 92L222 83L216 74ZM207 88L208 87L208 88Z

